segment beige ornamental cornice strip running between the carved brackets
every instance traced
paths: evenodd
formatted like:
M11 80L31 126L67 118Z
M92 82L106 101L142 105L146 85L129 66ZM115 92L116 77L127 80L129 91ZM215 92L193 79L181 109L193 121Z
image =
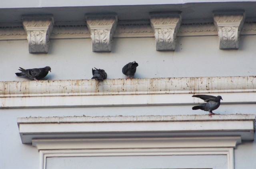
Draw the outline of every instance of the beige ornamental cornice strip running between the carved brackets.
M240 35L256 35L256 22L245 22ZM213 22L181 24L178 37L218 36ZM83 22L55 23L50 39L87 39L90 31ZM150 22L119 21L114 38L154 38ZM22 24L0 24L0 40L26 40Z

